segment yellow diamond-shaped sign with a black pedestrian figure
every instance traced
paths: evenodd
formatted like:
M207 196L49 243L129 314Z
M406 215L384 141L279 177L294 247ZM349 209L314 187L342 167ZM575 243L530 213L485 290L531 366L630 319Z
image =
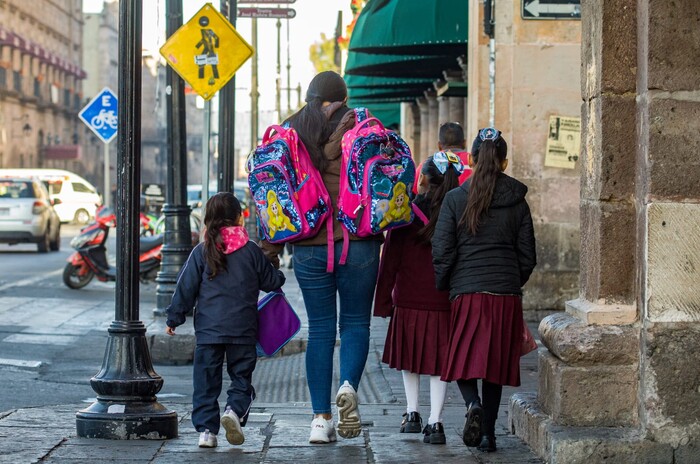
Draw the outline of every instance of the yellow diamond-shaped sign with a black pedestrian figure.
M160 48L163 58L205 100L213 97L253 52L211 3Z

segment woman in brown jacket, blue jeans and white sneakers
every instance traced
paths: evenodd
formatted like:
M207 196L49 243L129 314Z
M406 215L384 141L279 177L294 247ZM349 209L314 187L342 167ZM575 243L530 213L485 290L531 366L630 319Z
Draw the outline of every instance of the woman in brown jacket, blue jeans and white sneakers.
M347 87L343 78L325 71L316 75L309 84L306 105L286 121L296 130L312 163L321 173L333 211L337 211L340 190L342 138L356 124L355 112L346 106L346 101ZM345 264L340 265L343 230L335 214L332 224L333 272L327 272L327 226L324 225L313 238L294 242L294 274L309 322L306 378L314 414L309 437L311 443L336 440L330 402L336 327L340 329L340 387L335 396L338 434L343 438L360 435L357 388L369 351L372 300L383 239L381 234L365 238L351 234ZM278 255L284 244L263 242L262 247L278 265Z

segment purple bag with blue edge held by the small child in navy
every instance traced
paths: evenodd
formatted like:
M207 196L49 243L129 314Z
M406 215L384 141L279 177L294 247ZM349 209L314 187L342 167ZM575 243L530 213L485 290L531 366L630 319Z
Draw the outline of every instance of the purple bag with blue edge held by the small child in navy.
M258 356L274 356L301 329L299 316L284 292L275 290L258 301Z

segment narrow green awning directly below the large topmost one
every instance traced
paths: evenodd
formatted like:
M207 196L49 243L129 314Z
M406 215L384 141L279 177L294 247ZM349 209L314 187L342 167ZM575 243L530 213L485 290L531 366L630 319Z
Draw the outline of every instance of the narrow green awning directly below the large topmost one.
M457 68L456 56L375 55L350 52L345 74L371 77L439 79L445 69Z

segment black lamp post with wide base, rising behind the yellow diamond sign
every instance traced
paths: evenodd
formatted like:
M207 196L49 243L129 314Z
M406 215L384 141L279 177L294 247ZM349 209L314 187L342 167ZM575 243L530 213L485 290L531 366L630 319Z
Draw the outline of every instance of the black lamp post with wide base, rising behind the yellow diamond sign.
M182 0L166 0L165 33L182 26ZM187 133L185 128L185 82L168 66L165 70L165 110L168 151L165 185L165 232L160 271L156 276L155 316L164 316L175 293L177 276L192 251L190 207L187 204Z

